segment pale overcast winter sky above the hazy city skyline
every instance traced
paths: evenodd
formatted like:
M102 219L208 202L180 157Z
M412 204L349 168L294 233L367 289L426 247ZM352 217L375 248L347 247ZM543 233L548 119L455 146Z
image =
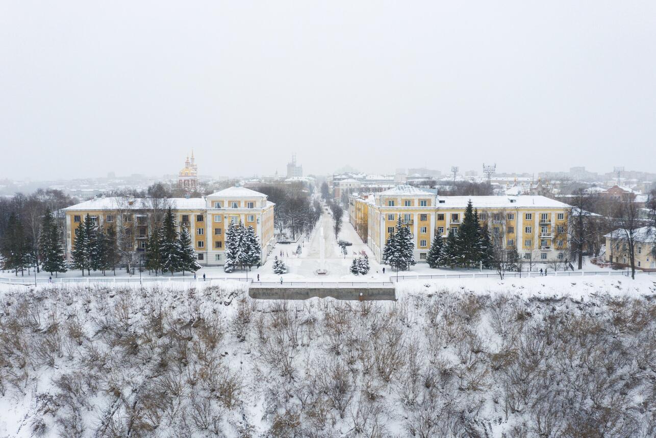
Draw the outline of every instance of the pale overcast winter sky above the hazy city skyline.
M0 1L0 179L656 171L656 1Z

